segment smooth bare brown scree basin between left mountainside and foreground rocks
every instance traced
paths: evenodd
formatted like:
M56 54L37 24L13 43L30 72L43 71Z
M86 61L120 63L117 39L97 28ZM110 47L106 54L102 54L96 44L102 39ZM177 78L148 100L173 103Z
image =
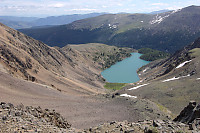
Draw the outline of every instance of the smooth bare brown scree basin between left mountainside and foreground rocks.
M148 101L112 98L109 95L66 94L49 86L11 77L3 72L0 72L0 85L0 101L55 109L76 128L89 128L114 120L132 122L148 118L144 112L141 113L143 107L149 104ZM152 115L149 114L149 117Z

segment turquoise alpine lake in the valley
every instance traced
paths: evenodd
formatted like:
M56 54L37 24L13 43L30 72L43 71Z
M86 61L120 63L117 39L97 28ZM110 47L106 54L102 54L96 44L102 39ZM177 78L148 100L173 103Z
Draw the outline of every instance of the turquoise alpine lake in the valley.
M139 81L137 70L148 64L149 61L140 59L142 54L131 53L131 57L126 58L110 68L104 70L101 75L110 83L134 83Z

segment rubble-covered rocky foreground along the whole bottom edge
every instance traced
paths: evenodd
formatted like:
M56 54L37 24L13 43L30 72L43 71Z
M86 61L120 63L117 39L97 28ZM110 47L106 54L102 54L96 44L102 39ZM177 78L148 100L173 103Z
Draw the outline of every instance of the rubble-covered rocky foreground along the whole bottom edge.
M192 108L191 108L192 107ZM191 117L199 118L193 114L194 102L181 112L175 121L181 121ZM196 120L197 120L196 119ZM198 119L199 120L199 119ZM1 102L0 104L0 132L137 132L137 133L161 133L161 132L198 132L200 124L195 120L191 121L194 126L170 120L142 120L138 122L117 122L99 124L96 127L87 129L75 129L55 110L41 109L40 107L24 106L20 104L14 106L11 103Z

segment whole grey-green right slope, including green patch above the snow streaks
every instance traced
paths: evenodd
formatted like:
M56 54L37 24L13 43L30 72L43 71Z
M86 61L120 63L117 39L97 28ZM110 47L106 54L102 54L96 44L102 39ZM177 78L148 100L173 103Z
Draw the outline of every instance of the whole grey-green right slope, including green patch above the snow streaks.
M194 70L194 75L169 82L162 82L165 79L173 78L173 74L171 73L170 76L168 75L157 81L149 82L149 85L137 90L128 91L128 93L136 95L139 98L149 99L159 105L167 107L176 115L188 104L188 101L195 100L199 102L200 80L198 78L200 78L200 76L198 74L200 72L200 48L192 49L189 52L193 57L192 62L186 64L182 68L175 69L172 73L180 77L180 72L190 72Z

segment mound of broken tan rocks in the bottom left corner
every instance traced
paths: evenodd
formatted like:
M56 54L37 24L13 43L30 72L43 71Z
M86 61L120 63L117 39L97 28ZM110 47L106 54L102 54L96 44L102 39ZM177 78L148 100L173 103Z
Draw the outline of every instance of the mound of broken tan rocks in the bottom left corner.
M0 103L0 132L62 132L70 127L55 110Z

